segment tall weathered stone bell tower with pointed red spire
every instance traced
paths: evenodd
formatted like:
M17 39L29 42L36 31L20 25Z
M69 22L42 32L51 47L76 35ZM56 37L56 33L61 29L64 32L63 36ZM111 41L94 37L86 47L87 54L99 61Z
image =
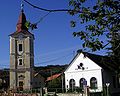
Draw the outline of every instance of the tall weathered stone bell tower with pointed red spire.
M16 25L16 32L10 34L10 88L30 89L33 87L34 35L25 26L23 9Z

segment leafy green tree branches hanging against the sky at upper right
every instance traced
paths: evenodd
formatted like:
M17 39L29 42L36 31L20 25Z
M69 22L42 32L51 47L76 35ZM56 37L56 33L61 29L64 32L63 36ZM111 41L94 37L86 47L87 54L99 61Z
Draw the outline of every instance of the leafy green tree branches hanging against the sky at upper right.
M72 16L78 16L79 21L71 21L72 27L76 24L86 24L86 30L79 30L73 35L83 40L83 47L92 49L92 51L105 48L113 34L120 30L120 1L118 0L98 0L93 6L89 6L89 0L70 0L69 6L72 10L69 12ZM91 1L92 2L92 1ZM86 5L87 4L87 5ZM82 13L76 10L81 10ZM91 22L91 23L90 23ZM101 39L105 36L107 42Z

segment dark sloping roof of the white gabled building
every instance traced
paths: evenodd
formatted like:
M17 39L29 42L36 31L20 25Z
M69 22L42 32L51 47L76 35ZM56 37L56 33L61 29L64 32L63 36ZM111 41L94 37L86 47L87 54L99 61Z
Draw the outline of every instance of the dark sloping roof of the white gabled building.
M84 57L88 57L93 62L95 62L98 66L102 67L105 70L107 69L107 70L115 71L115 70L118 69L118 65L115 64L110 57L97 55L97 54L92 54L92 53L88 53L88 52L82 52L80 50L77 51L76 56L72 59L69 66L72 64L72 62L74 60L76 60L76 58L78 58L78 56L80 54L84 54Z

